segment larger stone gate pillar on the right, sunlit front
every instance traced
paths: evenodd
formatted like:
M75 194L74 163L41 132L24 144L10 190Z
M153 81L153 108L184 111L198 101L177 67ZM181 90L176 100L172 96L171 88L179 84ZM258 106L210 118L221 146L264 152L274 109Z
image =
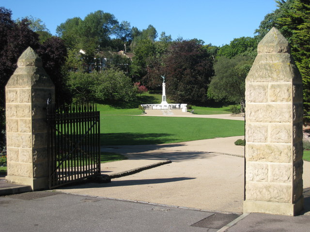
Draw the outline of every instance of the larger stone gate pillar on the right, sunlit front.
M246 78L244 212L294 216L303 208L302 78L277 29L257 50Z

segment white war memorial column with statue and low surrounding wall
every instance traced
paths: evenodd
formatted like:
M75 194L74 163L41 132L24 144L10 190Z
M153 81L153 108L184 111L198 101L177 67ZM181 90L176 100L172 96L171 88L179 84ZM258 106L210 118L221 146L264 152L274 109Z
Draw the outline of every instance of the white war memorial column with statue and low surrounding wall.
M182 110L182 112L187 111L187 104L169 104L166 98L166 83L165 75L161 76L163 78L163 92L160 104L141 104L144 110Z

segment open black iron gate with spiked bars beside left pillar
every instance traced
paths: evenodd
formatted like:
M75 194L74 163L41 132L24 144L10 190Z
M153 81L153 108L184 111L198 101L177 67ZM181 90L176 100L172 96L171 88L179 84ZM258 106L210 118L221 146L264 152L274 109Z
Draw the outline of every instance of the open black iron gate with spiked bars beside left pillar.
M54 109L47 100L49 188L100 174L100 112L94 104Z

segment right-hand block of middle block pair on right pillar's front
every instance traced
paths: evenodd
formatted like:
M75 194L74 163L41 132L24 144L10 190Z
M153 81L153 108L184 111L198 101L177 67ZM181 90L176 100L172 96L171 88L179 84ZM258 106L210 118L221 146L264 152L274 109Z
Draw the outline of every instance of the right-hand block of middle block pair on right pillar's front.
M291 143L292 124L278 123L269 125L269 142L271 143Z

